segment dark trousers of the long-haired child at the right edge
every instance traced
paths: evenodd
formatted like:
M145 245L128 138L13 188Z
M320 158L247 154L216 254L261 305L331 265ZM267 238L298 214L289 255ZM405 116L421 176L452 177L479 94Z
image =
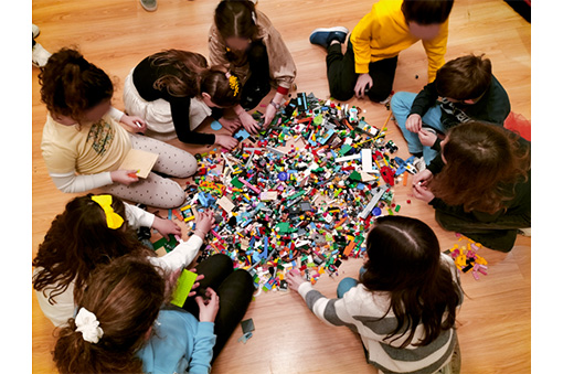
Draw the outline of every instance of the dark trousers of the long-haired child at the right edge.
M487 248L510 252L514 246L518 228L530 227L531 220L524 215L501 215L497 221L485 223L436 210L436 222L447 231L464 234Z

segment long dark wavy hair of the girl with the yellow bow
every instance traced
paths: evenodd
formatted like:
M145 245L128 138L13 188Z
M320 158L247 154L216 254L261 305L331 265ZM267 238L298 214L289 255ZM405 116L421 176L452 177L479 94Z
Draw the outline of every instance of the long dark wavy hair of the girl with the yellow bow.
M100 264L129 253L150 256L153 253L137 239L127 226L125 205L111 196L111 207L124 218L120 228L107 227L103 209L92 200L93 194L71 200L49 228L32 265L39 268L33 288L49 292L49 302L63 293L74 280L77 298L91 271Z

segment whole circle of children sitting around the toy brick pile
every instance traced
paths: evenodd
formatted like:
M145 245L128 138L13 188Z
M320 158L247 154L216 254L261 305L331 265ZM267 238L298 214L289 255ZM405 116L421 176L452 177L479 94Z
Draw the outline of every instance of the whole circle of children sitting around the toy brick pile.
M444 228L508 252L531 226L530 142L503 128L509 98L489 60L445 62L453 2L381 0L349 38L333 26L309 40L327 50L331 97L373 101L390 97L400 52L422 40L429 83L391 99L408 151L427 164L413 178L413 194L435 209ZM70 201L33 260L39 303L60 329L53 356L63 373L208 373L253 298L253 278L233 269L230 256L195 265L215 225L211 210L198 214L187 242L157 257L136 229L173 236L180 227L124 202L184 204L185 191L167 177L193 175L198 160L164 141L232 150L233 136L194 129L213 117L232 133L242 127L256 135L259 118L248 111L274 87L262 118L267 126L287 100L295 63L254 2L221 1L209 47L211 66L178 50L142 60L125 79L127 114L110 105L108 75L78 51L62 49L41 68L49 110L41 147L53 182L63 192L104 192ZM131 149L159 154L146 179L119 169ZM453 259L416 218L379 216L364 232L364 265L358 280L340 281L337 299L315 290L299 269L287 273L289 289L322 321L357 332L368 363L382 372L458 372L463 291ZM180 308L169 301L183 269L198 277Z

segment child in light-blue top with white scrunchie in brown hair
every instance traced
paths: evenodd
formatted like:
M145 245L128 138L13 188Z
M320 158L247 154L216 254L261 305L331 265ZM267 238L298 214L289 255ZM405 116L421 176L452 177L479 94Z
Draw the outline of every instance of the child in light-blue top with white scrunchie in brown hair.
M248 282L253 288L249 274L233 273L233 263L230 265L232 274L224 280L230 289L225 292L223 286L216 291L208 287L205 298L195 297L195 314L173 306L162 308L171 287L146 259L124 256L102 266L89 278L76 317L68 320L55 343L53 356L59 371L209 373L216 357L215 340L229 339L219 329L222 309L236 312L240 308L244 314L247 307L229 292L238 295L237 289ZM234 275L242 276L238 279L245 284L237 282Z

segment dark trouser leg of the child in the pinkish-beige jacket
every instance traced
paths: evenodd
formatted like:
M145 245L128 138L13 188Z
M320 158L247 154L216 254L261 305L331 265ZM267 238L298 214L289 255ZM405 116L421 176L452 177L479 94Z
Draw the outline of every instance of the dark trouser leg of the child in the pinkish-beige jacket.
M241 92L241 106L255 108L272 89L269 85L268 51L261 41L254 41L248 50L248 79Z

